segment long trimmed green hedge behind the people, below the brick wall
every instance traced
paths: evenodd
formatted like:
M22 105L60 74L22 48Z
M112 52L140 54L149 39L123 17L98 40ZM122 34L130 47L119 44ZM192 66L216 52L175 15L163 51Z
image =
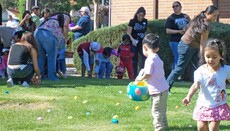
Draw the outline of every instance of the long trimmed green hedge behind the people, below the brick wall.
M214 23L211 25L212 31L210 37L218 38L225 42L227 50L230 49L230 25L223 23ZM112 48L117 48L121 42L121 36L126 33L127 24L121 24L113 27L101 28L96 31L90 32L88 35L81 37L80 39L73 42L73 50L76 52L79 44L85 41L98 41L103 47L110 46ZM165 75L168 76L171 72L171 64L173 61L173 54L169 47L169 35L165 32L165 20L153 20L148 22L147 33L156 33L160 36L160 50L159 56L164 61ZM227 63L230 63L230 53L227 52ZM119 59L112 57L112 63L114 67L118 65ZM77 53L74 53L74 64L79 70L81 67L81 61ZM187 74L187 73L186 73ZM192 77L192 73L190 73ZM113 75L114 72L113 72Z

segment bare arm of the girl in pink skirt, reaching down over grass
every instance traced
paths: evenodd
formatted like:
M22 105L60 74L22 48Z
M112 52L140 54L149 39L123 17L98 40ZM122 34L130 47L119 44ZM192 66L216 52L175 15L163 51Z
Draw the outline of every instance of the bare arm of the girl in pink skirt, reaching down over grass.
M192 86L189 89L189 92L187 94L187 96L182 100L182 103L184 105L188 105L193 97L193 95L197 92L197 90L200 87L200 82L196 81L192 84Z

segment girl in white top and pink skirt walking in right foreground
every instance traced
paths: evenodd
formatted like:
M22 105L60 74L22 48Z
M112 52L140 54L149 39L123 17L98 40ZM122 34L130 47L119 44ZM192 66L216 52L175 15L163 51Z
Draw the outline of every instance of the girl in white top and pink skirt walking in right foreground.
M194 72L194 83L182 102L188 105L200 89L193 112L197 129L217 131L221 120L230 120L225 83L230 79L230 66L224 65L224 45L217 39L207 43L203 55L203 65Z

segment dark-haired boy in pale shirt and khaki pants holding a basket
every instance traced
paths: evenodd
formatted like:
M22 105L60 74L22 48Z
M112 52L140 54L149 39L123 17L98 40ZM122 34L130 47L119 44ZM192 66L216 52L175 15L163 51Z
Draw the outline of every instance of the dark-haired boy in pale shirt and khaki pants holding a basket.
M159 37L154 34L147 34L143 39L142 49L147 59L145 60L143 75L138 75L139 77L136 80L147 80L149 94L152 97L154 130L166 130L168 128L166 109L169 85L164 76L163 61L157 55Z

